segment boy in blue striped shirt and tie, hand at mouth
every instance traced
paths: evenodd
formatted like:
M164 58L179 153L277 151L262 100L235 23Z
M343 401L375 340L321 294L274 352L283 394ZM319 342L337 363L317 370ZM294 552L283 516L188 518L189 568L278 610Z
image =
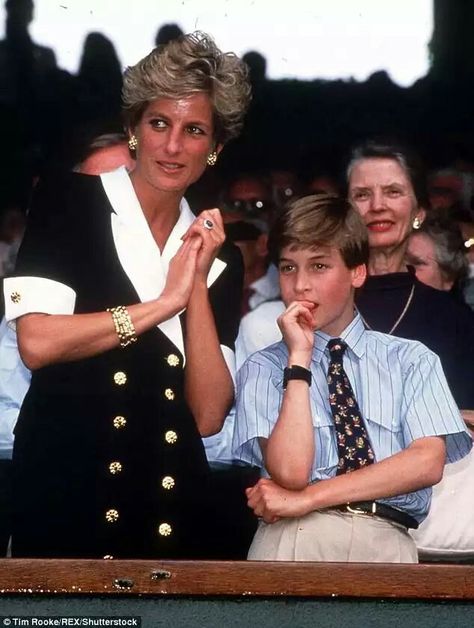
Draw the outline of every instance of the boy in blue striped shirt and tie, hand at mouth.
M369 331L354 311L367 233L343 199L293 202L270 238L283 340L237 380L234 451L266 476L247 489L261 518L248 558L417 562L407 532L446 459L471 439L439 358Z

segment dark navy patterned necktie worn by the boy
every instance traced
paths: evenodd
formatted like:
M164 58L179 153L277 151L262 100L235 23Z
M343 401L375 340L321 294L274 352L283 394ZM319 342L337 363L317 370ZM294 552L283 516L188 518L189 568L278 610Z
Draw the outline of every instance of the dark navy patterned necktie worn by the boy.
M337 475L341 475L371 464L375 456L354 391L342 365L347 345L340 338L334 338L327 346L331 358L327 375L329 405L336 426L339 456Z

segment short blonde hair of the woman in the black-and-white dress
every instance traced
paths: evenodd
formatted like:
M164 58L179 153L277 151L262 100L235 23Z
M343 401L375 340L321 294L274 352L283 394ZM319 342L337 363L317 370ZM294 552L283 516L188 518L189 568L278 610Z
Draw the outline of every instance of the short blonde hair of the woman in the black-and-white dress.
M221 52L213 39L196 31L152 50L123 78L125 125L133 129L157 98L185 98L204 92L214 108L214 138L225 144L242 128L250 103L247 66L233 52Z

